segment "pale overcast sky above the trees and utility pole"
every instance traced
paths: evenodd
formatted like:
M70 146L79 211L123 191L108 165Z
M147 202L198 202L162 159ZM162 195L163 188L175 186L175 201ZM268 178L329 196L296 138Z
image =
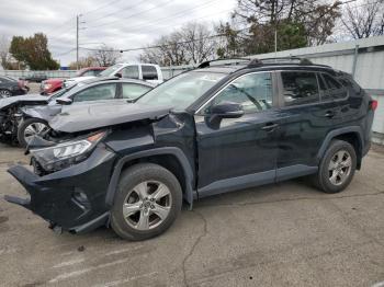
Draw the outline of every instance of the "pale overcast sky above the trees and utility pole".
M144 47L188 22L226 21L236 0L1 0L0 36L44 33L53 57L67 66L76 60L76 15L80 47L102 44L116 49ZM89 51L80 49L80 57ZM123 53L137 61L140 51Z

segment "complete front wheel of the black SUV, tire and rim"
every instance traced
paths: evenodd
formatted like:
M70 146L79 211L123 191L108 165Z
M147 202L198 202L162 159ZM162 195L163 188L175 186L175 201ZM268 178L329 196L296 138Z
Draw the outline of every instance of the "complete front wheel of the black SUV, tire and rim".
M170 171L153 163L136 164L121 175L111 226L123 239L149 239L172 225L181 205L181 186Z

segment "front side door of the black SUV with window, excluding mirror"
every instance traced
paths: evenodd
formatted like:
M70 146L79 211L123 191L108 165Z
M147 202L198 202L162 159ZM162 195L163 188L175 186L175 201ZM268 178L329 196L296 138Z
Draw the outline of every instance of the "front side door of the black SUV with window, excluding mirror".
M271 72L241 76L195 115L200 197L274 181L279 113L273 83ZM245 114L212 116L212 106L223 102L239 103Z

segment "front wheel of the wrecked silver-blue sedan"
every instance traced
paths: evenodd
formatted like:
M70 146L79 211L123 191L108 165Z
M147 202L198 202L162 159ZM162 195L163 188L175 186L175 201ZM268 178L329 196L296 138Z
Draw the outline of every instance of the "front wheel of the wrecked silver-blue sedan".
M32 117L23 120L18 128L19 145L25 148L33 136L48 130L48 123L44 119Z

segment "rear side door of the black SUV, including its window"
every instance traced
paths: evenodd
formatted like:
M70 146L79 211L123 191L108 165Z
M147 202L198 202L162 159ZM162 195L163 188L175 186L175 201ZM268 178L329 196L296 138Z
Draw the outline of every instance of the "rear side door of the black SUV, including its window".
M335 105L320 101L325 87L315 71L281 71L279 79L282 124L276 180L286 180L317 169L316 156L332 128Z

